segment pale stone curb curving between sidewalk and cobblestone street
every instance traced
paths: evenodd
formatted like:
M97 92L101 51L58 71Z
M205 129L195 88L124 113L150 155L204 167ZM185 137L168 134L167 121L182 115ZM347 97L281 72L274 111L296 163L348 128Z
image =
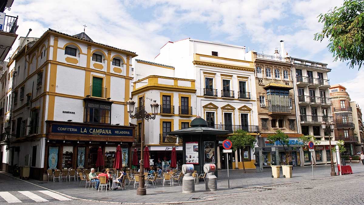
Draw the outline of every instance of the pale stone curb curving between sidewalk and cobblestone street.
M13 177L13 176L11 176L8 173L5 173L3 171L1 171L0 173L1 174L4 174L4 175L7 175L8 177L12 177L12 178L15 178L15 179L19 179L19 178ZM293 184L293 183L309 182L309 181L316 181L316 180L323 180L323 179L332 179L332 178L337 178L337 177L349 177L349 176L361 175L361 174L364 174L364 173L348 174L348 175L341 175L341 176L336 176L336 177L326 177L326 178L320 178L320 179L309 179L309 180L298 181L298 182L287 182L287 183L279 183L279 184L264 185L264 186L254 186L254 187L238 188L237 190L247 190L247 189L260 188L260 187L287 185L287 184ZM92 201L92 202L101 202L101 203L110 203L110 204L182 204L182 203L193 203L193 202L203 202L203 201L214 201L214 200L217 200L217 199L211 198L211 197L221 197L221 196L230 196L230 195L237 195L237 194L247 194L247 193L253 193L253 192L261 192L261 191L257 191L257 190L248 190L250 192L241 192L241 193L231 193L231 194L220 194L220 195L206 196L206 197L203 197L203 198L205 198L204 200L195 200L195 201L176 201L176 202L114 202L114 201L99 201L99 200L90 200L90 199L72 197L72 196L69 196L67 194L63 194L63 193L57 192L55 190L48 189L46 187L37 185L35 183L25 181L23 179L19 179L19 180L20 181L23 181L23 182L30 183L30 184L35 185L35 186L38 186L38 187L41 187L42 189L46 189L48 191L51 191L51 192L54 192L54 193L63 195L65 197L68 197L68 198L71 198L71 199L83 200L83 201Z

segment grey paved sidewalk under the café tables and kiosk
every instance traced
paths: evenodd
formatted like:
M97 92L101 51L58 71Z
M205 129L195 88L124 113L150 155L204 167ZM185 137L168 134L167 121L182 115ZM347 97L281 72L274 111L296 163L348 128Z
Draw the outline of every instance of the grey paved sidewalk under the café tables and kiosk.
M361 163L347 163L351 165L354 174L364 173L364 166ZM337 171L337 167L335 166ZM82 198L87 200L97 201L108 201L108 202L128 202L128 203L171 203L171 202L186 202L186 201L198 201L198 200L209 200L204 198L207 196L215 196L222 194L234 194L242 192L250 192L244 190L244 188L255 187L255 186L267 186L276 185L281 183L299 182L312 179L311 167L294 167L292 178L272 178L271 169L264 169L263 173L256 173L255 170L229 170L230 177L230 189L227 188L227 171L221 170L218 175L218 190L215 192L205 192L205 183L202 181L195 186L195 193L185 194L182 193L182 186L166 185L162 186L160 183L157 184L156 188L149 186L147 188L146 196L137 196L136 189L133 185L127 186L127 190L114 190L114 191L100 191L97 192L95 189L87 190L84 188L84 183L79 186L79 182L48 182L48 181L37 181L29 179L28 182L34 183L35 185L43 186L48 189L67 194L68 196ZM330 177L330 166L316 166L314 167L315 179L328 178ZM282 171L281 171L282 176Z

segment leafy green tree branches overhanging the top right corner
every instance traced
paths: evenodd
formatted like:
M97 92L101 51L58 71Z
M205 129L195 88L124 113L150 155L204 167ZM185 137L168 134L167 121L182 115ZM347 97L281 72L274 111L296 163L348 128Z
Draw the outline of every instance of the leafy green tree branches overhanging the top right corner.
M347 61L350 68L363 64L364 60L364 1L345 0L342 7L330 9L317 16L323 23L322 31L314 40L329 39L329 51L334 60Z

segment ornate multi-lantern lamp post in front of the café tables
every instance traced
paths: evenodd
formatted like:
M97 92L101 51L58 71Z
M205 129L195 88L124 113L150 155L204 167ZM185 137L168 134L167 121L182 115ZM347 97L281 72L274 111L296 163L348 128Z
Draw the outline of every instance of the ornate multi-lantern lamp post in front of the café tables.
M152 115L150 115L145 110L144 97L143 97L142 106L135 108L135 114L132 115L132 113L134 112L135 102L132 100L132 98L130 98L130 100L128 100L126 102L126 104L128 105L128 113L131 118L136 117L137 119L142 119L141 154L140 154L140 172L141 173L139 174L139 187L137 189L137 195L147 195L147 190L145 189L145 186L144 186L144 183L145 183L144 159L143 159L143 155L144 155L144 149L143 149L144 148L144 119L146 119L147 121L149 121L150 119L154 120L155 116L158 113L159 105L156 100L153 101L153 103L150 105L150 107L152 108ZM148 160L148 159L146 159L146 160Z

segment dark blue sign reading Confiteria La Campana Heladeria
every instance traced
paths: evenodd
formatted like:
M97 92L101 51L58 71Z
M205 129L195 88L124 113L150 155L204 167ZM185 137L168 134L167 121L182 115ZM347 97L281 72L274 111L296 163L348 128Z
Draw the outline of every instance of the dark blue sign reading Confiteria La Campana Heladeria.
M133 136L132 129L87 127L78 125L52 124L52 132L78 135Z

